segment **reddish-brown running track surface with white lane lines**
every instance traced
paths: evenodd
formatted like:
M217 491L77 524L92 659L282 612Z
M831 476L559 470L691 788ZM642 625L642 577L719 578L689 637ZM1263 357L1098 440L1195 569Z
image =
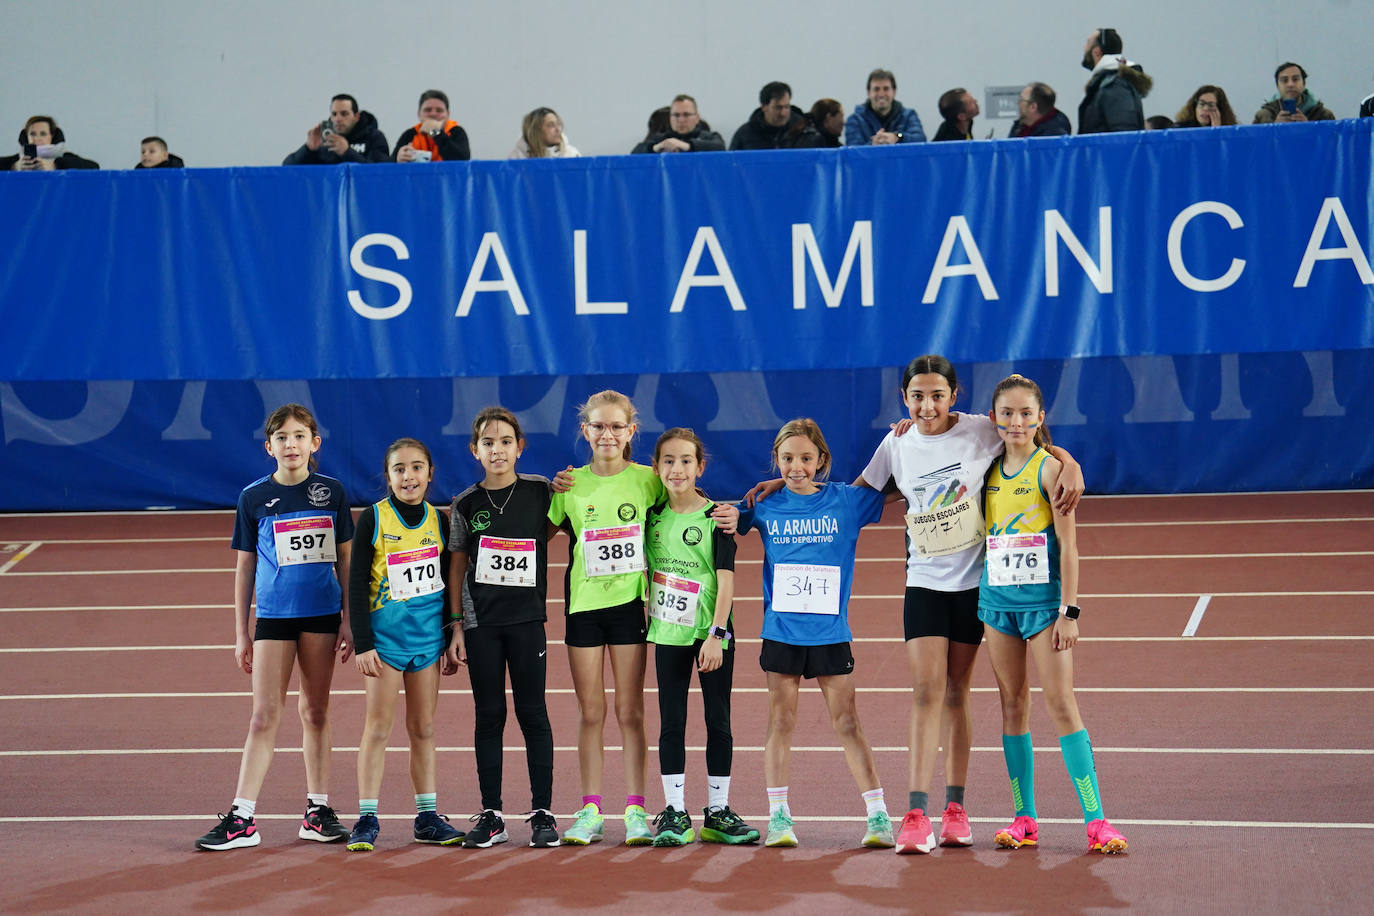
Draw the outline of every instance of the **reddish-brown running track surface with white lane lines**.
M808 692L797 744L812 750L794 754L791 779L802 842L796 850L631 850L611 845L616 821L600 846L530 850L514 816L504 847L415 846L407 842L411 788L398 751L387 755L379 850L348 856L294 839L304 770L293 750L300 724L287 715L283 750L258 801L262 846L194 853L191 840L228 806L249 715L249 681L228 647L231 516L0 516L0 569L10 564L0 573L4 909L1367 911L1374 493L1101 497L1079 516L1085 639L1074 651L1076 683L1106 809L1131 838L1129 854L1116 858L1084 854L1079 808L1039 707L1032 735L1041 845L991 845L1009 818L1010 792L996 689L982 658L967 795L976 846L967 850L899 858L859 849L861 802L823 703ZM860 713L900 817L911 700L899 523L889 508L885 525L860 541L870 562L859 563L851 619ZM21 558L34 542L41 545ZM554 555L565 555L561 544ZM742 541L742 559L760 555L757 538ZM736 619L745 634L758 629L758 575L757 563L741 567ZM1200 596L1212 597L1197 634L1182 637ZM566 825L577 791L576 700L558 658L561 607L551 602L550 714L559 747L555 809ZM731 795L763 825L767 694L756 659L757 643L746 640L735 676ZM653 670L649 678L651 688ZM341 813L356 802L360 680L349 666L334 683L341 750L331 788ZM460 820L477 806L471 703L462 674L444 688L440 808ZM692 705L687 799L699 808L695 695ZM647 714L653 740L653 692ZM514 717L506 740L506 805L517 812L528 783ZM611 720L606 743L618 742ZM404 747L400 728L392 744ZM657 809L655 773L650 754ZM933 798L941 780L937 772ZM622 792L620 754L610 750L609 809Z

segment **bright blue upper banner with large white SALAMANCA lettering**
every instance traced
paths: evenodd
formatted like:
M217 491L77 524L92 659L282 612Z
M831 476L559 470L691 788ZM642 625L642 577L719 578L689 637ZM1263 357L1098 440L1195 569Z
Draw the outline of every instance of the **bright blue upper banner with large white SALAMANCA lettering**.
M0 379L1367 349L1371 132L7 173Z

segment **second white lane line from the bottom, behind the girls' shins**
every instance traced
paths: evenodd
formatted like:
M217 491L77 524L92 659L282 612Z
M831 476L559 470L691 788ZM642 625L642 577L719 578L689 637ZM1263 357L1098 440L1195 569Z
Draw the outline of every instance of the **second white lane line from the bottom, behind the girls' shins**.
M335 746L333 750L344 754L356 754L357 747ZM471 746L447 746L436 747L434 751L440 754L471 754L474 753ZM503 746L502 750L507 754L523 754L523 744ZM624 751L625 748L617 744L607 744L607 751ZM657 744L650 744L649 750L654 754L658 753ZM688 751L705 753L706 746L699 747L688 746ZM809 747L793 747L793 753L797 754L844 754L844 747L829 747L829 746L809 746ZM970 748L977 754L1002 754L1002 746L998 747L973 747ZM555 746L554 751L561 754L574 754L577 753L576 744ZM763 754L763 744L736 744L736 753L747 754ZM892 747L874 747L875 754L905 754L907 747L892 746ZM0 757L165 757L165 755L185 755L185 754L242 754L243 747L106 747L106 748L70 748L70 750L23 750L23 751L0 751ZM300 747L278 747L275 750L278 754L300 754ZM408 754L409 747L387 747L387 754ZM1036 747L1036 754L1054 754L1059 755L1062 751L1059 746L1044 746ZM1374 748L1367 747L1098 747L1092 746L1094 754L1190 754L1190 755L1252 755L1252 757L1374 757Z

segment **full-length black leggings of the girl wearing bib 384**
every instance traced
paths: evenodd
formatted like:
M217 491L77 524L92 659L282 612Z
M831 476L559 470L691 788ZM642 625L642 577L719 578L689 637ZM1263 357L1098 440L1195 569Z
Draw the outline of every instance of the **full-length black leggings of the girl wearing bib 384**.
M506 672L511 676L515 720L525 735L530 808L554 803L554 729L544 705L548 645L543 621L464 630L467 674L477 707L473 744L482 808L502 810L502 742L506 733Z

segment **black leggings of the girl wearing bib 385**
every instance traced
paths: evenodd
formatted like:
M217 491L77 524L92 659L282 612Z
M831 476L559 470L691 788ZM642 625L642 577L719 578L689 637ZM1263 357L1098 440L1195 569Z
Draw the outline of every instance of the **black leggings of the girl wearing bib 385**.
M658 772L665 776L687 772L687 688L697 667L695 645L655 645L658 672ZM706 775L730 776L735 739L730 733L730 688L735 680L735 647L721 652L720 667L698 672L701 700L706 711Z

